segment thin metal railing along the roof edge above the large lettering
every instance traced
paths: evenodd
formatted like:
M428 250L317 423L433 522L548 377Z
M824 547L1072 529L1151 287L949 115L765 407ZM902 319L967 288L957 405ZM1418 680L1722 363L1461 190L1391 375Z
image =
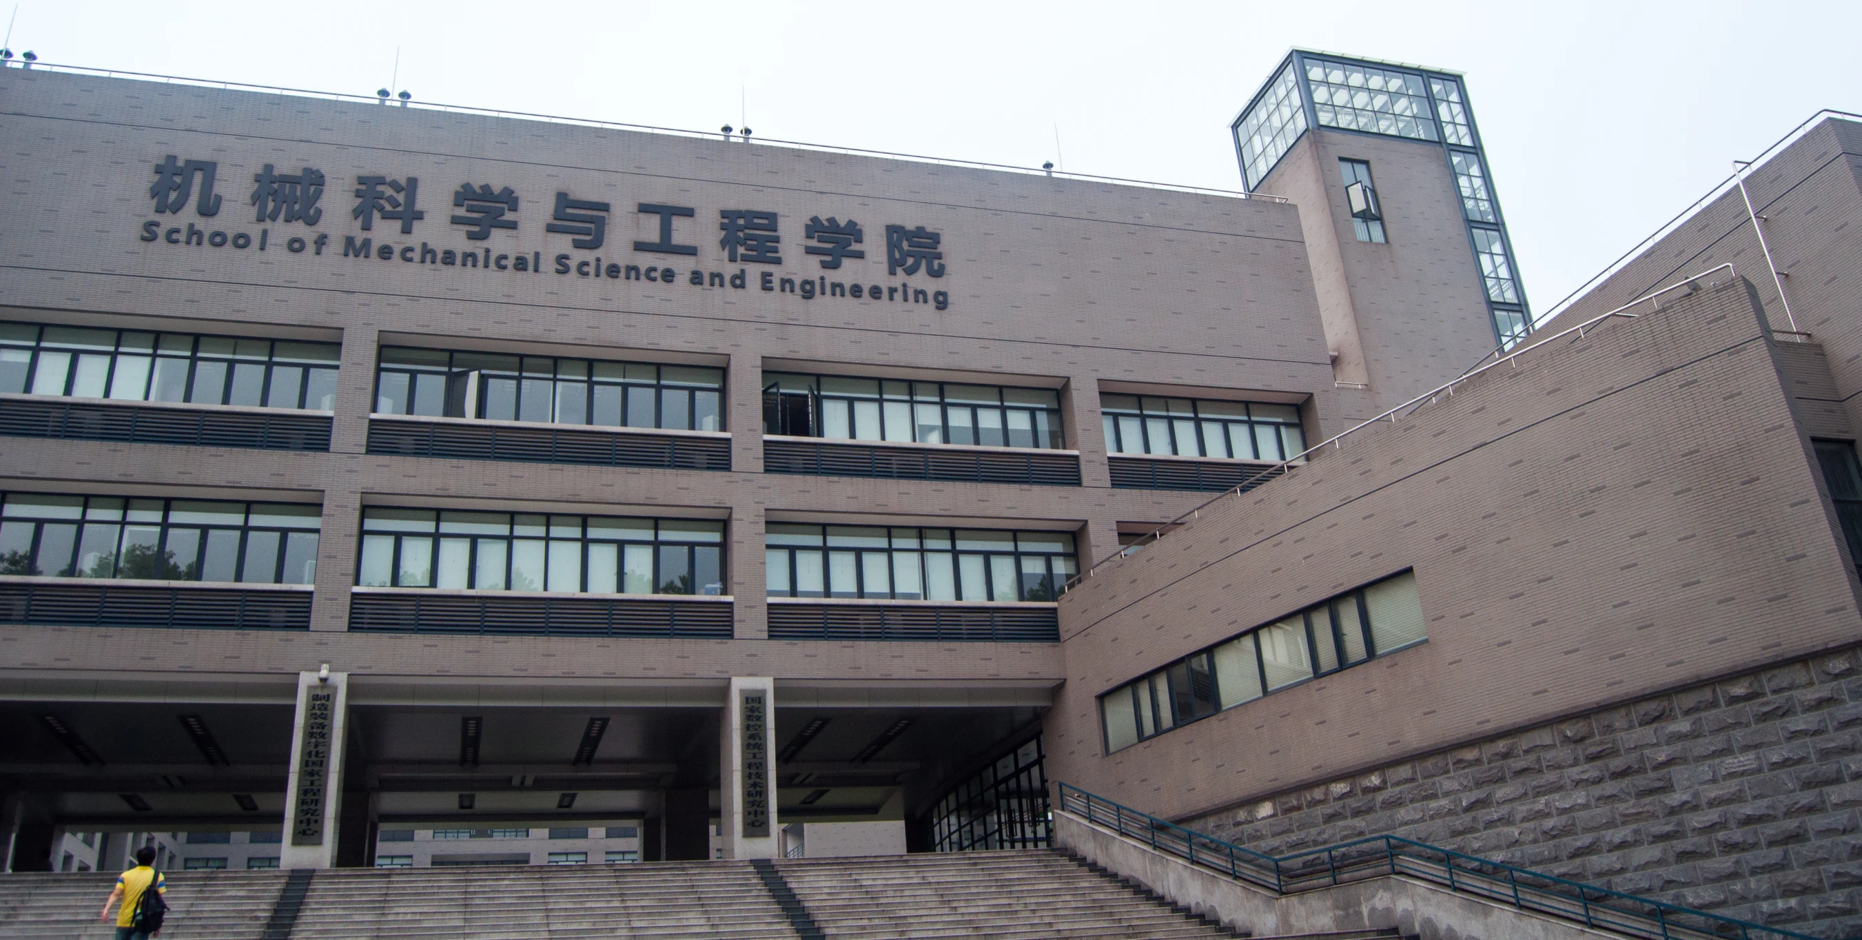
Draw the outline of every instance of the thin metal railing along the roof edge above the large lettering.
M15 65L15 67L19 67L19 65ZM220 89L227 89L227 91L231 91L231 89L240 89L240 91L270 91L270 93L276 93L276 95L292 95L292 97L302 97L302 99L343 101L343 102L352 102L352 104L374 104L374 106L402 106L402 108L413 108L413 110L423 110L423 112L480 114L480 115L488 115L488 117L519 117L519 119L525 119L525 121L546 121L546 123L551 123L551 125L573 125L573 127L601 127L601 128L616 128L616 130L639 130L639 132L644 132L644 134L670 134L670 136L676 136L676 138L700 138L700 140L719 140L719 138L722 138L722 140L734 140L730 134L721 134L717 130L685 130L685 128L678 128L678 127L629 125L626 121L601 121L601 119L594 119L594 117L564 117L564 115L557 115L557 114L516 112L516 110L508 110L508 108L475 108L471 104L439 104L439 102L432 102L432 101L406 101L406 102L397 101L397 102L389 104L385 99L378 99L378 97L372 97L372 95L350 95L346 91L315 91L315 89L307 89L307 87L259 86L259 84L251 84L251 82L216 82L212 78L188 78L188 76L181 76L181 74L136 73L136 71L127 71L127 69L95 69L95 67L89 67L89 65L58 65L58 63L50 63L50 61L34 61L28 69L30 71L48 71L48 73L95 74L95 76L104 76L104 78L136 78L136 80L149 80L149 82L182 84L182 86L194 86L194 87L220 87ZM1028 168L1028 166L1013 166L1013 164L991 164L991 162L985 162L985 160L959 160L959 158L951 158L951 156L924 156L924 154L916 154L916 153L875 151L875 149L866 149L866 147L840 147L840 145L834 145L834 143L806 143L806 141L799 141L799 140L778 140L778 138L754 138L752 140L752 138L747 138L747 136L739 136L735 140L743 141L743 143L763 143L763 145L784 147L784 149L797 149L797 151L842 153L842 154L853 154L853 156L884 156L884 158L890 158L890 160L911 160L914 164L959 166L959 168L972 168L972 169L994 169L994 171L1004 171L1004 173L1020 173L1020 175L1026 175L1026 177L1056 177L1056 179L1078 179L1078 181L1086 181L1086 182L1113 182L1113 184L1121 184L1121 186L1145 186L1145 188L1151 188L1151 190L1186 192L1186 194L1195 194L1195 195L1223 195L1223 197L1229 197L1229 199L1262 199L1262 201L1268 201L1268 203L1285 203L1287 201L1285 195L1251 194L1251 192L1242 192L1242 190L1220 190L1220 188L1214 188L1214 186L1188 186L1188 184L1179 184L1179 182L1154 182L1154 181L1127 179L1127 177L1102 177L1102 175L1097 175L1097 173L1067 173L1067 171L1061 171L1061 169L1043 169L1043 168Z

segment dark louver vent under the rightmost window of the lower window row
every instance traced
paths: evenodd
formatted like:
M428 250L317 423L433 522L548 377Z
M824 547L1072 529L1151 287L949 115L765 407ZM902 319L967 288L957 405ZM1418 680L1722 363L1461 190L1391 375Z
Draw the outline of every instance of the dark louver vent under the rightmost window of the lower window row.
M1059 642L1052 607L773 603L771 640Z

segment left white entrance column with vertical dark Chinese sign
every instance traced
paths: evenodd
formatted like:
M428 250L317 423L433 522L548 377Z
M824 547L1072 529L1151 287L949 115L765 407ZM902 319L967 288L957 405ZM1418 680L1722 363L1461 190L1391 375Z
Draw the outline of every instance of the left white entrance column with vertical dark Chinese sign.
M333 867L343 810L343 752L348 741L348 674L298 674L298 715L290 730L285 784L285 845L279 867Z

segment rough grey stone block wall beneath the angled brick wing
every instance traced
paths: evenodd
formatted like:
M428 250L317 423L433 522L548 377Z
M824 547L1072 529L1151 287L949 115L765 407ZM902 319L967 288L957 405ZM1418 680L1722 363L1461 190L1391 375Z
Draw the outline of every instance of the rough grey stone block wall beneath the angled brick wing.
M1862 650L1678 689L1184 821L1287 854L1393 834L1862 936Z

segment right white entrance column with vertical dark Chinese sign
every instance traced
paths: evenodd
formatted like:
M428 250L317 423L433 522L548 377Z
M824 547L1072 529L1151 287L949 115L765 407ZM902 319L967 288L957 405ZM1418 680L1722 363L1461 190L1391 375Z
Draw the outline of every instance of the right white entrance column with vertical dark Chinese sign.
M724 858L780 858L776 823L776 679L730 679L719 722L719 828Z

